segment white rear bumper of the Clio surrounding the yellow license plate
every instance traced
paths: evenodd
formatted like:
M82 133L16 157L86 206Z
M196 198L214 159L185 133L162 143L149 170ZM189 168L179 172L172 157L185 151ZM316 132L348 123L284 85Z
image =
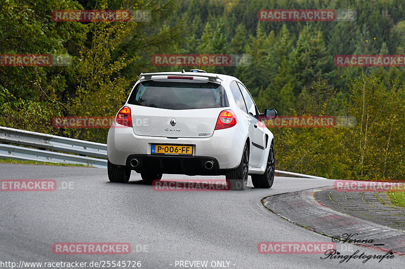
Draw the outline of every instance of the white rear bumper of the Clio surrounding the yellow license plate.
M139 136L133 132L130 127L110 128L107 138L107 156L108 160L114 165L128 166L128 159L132 156L140 156L145 162L155 163L154 169L158 169L157 164L164 165L172 162L176 167L187 167L192 163L191 170L200 171L200 163L204 160L213 160L216 170L228 170L237 167L240 163L241 154L247 137L244 132L238 130L238 124L232 128L216 130L211 137L205 138L167 138L155 136ZM151 155L152 144L182 144L192 145L192 156L176 155ZM165 160L168 160L165 163ZM177 163L173 160L178 160ZM190 161L192 160L192 161ZM139 160L138 160L139 161ZM204 165L204 163L203 163ZM129 166L128 168L131 168ZM214 172L214 168L211 172ZM132 168L131 168L132 169ZM135 170L135 169L134 169ZM175 171L175 168L165 168L166 171ZM186 170L179 170L178 174L186 174ZM168 173L168 172L165 172ZM197 173L196 175L201 175ZM205 174L203 174L205 175ZM212 174L210 174L212 175Z

